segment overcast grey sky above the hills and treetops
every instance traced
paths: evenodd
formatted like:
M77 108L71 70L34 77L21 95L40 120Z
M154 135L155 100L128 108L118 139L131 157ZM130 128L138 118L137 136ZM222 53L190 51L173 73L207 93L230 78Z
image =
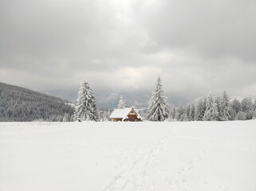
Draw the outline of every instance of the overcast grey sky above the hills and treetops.
M256 97L255 0L1 0L0 81Z

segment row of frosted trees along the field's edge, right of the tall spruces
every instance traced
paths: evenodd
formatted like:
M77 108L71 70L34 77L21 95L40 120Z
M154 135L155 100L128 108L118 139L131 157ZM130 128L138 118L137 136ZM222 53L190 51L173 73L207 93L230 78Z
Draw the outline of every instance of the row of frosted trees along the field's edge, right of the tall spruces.
M256 119L256 101L250 97L230 102L226 92L222 96L207 96L187 106L172 106L170 121L227 121Z

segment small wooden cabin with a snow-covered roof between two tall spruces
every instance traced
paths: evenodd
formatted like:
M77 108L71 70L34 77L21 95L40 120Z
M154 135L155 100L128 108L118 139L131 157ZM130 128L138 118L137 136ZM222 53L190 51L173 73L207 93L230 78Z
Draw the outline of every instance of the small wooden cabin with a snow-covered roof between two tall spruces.
M112 111L110 118L113 122L117 121L141 121L139 111L132 107L124 107L124 109L115 109Z

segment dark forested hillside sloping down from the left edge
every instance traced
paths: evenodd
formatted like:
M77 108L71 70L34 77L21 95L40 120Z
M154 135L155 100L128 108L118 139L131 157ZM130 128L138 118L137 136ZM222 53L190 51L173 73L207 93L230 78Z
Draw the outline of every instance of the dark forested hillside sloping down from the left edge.
M0 121L70 121L73 111L60 98L0 82Z

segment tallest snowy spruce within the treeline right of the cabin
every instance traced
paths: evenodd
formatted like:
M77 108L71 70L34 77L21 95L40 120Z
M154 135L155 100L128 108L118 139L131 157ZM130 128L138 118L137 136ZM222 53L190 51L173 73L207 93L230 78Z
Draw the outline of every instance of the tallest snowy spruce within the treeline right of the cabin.
M220 100L220 111L219 111L219 119L222 121L227 121L230 119L230 100L226 95L226 91L223 92L223 95Z

